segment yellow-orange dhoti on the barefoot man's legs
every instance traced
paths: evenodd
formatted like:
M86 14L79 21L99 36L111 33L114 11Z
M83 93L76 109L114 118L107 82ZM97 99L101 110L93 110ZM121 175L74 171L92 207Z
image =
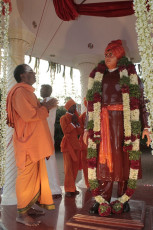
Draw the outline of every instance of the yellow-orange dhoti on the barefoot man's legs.
M17 171L16 195L19 213L25 213L36 202L48 210L55 209L45 159L33 163L27 156L25 168Z

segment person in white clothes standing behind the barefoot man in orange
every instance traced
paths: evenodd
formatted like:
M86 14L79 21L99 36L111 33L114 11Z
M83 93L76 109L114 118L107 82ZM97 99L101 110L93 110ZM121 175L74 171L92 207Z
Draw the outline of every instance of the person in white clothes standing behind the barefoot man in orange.
M48 84L41 85L40 96L43 98L43 101L46 102L51 99L52 87ZM49 117L47 118L48 126L51 132L51 136L54 143L54 124L56 119L56 109L53 108L49 111ZM59 175L57 170L57 163L55 152L54 154L46 160L47 172L49 185L52 191L53 198L59 198L62 196L62 190L60 187Z

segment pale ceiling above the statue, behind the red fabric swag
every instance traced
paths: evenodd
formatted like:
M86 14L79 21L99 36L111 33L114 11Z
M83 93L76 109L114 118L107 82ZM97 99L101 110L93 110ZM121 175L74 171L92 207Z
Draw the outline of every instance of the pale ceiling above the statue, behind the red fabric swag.
M94 2L86 0L85 3ZM21 19L34 34L29 55L75 67L82 57L86 61L91 57L100 61L104 58L106 45L121 39L127 56L135 62L140 60L134 15L117 18L79 16L75 21L66 22L56 15L52 0L47 0L45 8L42 0L16 0L16 3ZM88 47L89 43L93 48Z

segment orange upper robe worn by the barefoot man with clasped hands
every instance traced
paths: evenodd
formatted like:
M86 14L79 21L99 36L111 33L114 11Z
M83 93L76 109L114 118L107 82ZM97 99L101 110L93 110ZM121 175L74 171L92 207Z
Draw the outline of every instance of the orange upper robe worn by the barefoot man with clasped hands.
M7 97L8 125L14 127L13 144L17 167L25 167L26 156L37 162L54 152L46 118L48 111L36 98L34 88L17 83Z

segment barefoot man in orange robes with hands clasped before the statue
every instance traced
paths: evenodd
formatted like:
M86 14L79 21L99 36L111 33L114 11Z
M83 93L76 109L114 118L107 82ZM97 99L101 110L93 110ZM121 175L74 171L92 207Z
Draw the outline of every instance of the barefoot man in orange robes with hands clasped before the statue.
M40 104L32 87L36 78L30 66L18 65L14 70L14 77L17 84L8 93L7 123L14 128L13 144L17 165L16 221L27 226L37 226L40 221L30 215L43 212L33 210L31 206L37 203L49 210L55 208L45 158L54 153L46 118L48 111L57 106L57 100L53 98Z

